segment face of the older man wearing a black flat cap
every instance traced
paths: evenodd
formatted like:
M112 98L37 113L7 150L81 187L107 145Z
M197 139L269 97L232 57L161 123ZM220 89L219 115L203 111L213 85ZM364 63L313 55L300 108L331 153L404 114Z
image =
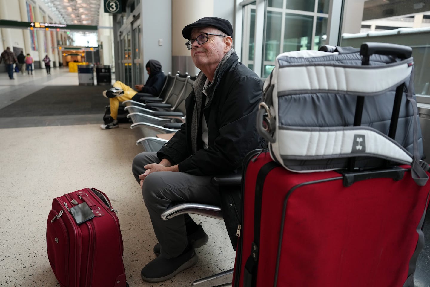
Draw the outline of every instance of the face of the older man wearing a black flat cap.
M219 30L212 27L197 27L191 31L191 39L196 39L197 36L205 33L223 34ZM202 70L205 65L218 65L224 57L226 44L224 43L225 37L208 36L208 41L203 44L194 41L193 49L190 50L191 58L194 65Z

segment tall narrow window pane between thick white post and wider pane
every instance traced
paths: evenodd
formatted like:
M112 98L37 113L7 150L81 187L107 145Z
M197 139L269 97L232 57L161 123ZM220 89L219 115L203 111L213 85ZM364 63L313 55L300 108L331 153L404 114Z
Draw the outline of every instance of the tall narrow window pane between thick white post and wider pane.
M275 61L280 53L282 12L267 11L266 40L264 41L264 61Z

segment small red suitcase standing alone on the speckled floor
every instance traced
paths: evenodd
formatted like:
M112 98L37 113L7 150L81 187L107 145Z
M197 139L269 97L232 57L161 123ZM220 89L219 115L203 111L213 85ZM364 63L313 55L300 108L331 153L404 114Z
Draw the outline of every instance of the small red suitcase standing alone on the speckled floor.
M95 217L77 225L70 209L86 203ZM61 287L126 287L120 222L106 194L85 188L52 201L46 241Z

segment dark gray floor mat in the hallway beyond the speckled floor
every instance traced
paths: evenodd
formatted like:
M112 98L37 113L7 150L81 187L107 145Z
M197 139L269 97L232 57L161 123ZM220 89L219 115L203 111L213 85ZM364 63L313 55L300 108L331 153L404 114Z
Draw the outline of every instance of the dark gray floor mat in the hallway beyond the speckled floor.
M104 113L107 86L46 86L0 110L0 117Z

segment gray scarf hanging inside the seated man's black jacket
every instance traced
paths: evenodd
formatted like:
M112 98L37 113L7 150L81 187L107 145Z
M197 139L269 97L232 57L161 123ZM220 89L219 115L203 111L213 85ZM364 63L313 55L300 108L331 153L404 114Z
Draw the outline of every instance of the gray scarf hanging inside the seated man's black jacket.
M230 49L230 51L224 55L221 62L219 62L215 69L213 82L205 88L206 95L208 96L208 103L212 101L213 91L216 85L214 85L214 82L216 81L215 79L217 78L218 72L230 55L233 54L233 52L234 50ZM203 100L203 86L205 85L206 79L207 78L205 74L200 72L200 74L197 76L197 79L193 83L194 95L196 96L196 105L194 105L193 116L191 118L191 148L193 154L197 151L197 136L199 135L200 115L203 112L203 109L201 108Z

